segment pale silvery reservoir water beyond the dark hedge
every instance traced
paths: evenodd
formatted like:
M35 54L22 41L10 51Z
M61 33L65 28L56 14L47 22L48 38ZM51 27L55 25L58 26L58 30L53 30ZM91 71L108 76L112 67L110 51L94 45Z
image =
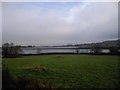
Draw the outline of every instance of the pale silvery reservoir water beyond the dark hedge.
M91 53L91 49L77 49L79 53ZM102 53L109 53L109 49L102 49ZM74 48L23 48L22 54L41 54L41 53L76 53Z

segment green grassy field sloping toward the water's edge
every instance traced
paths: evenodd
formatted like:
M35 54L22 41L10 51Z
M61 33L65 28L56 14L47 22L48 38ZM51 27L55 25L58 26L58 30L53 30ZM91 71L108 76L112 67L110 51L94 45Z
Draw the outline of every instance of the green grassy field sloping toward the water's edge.
M118 57L41 55L4 58L14 78L30 77L62 88L118 87ZM3 66L4 68L4 66Z

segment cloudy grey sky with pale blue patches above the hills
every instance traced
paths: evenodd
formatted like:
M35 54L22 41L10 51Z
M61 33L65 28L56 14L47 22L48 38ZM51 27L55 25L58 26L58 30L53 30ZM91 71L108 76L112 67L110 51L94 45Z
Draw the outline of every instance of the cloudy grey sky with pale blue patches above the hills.
M2 3L3 43L62 45L117 38L117 2Z

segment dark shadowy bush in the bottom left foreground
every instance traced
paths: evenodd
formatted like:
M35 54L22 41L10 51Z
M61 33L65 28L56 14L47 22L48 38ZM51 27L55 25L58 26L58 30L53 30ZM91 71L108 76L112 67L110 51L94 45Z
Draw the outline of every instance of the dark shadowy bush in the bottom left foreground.
M19 76L17 78L13 78L7 68L4 67L2 70L2 90L8 90L8 89L37 89L37 88L50 88L55 89L59 88L57 85L46 82L40 82L39 80L32 78L32 77L26 77L26 76Z

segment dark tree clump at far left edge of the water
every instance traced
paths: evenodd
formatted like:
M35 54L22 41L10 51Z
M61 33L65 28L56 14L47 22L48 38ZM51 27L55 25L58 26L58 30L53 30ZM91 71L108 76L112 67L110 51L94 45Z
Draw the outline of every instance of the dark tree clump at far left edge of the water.
M19 46L15 46L14 43L4 43L2 45L3 57L18 57L21 49Z

